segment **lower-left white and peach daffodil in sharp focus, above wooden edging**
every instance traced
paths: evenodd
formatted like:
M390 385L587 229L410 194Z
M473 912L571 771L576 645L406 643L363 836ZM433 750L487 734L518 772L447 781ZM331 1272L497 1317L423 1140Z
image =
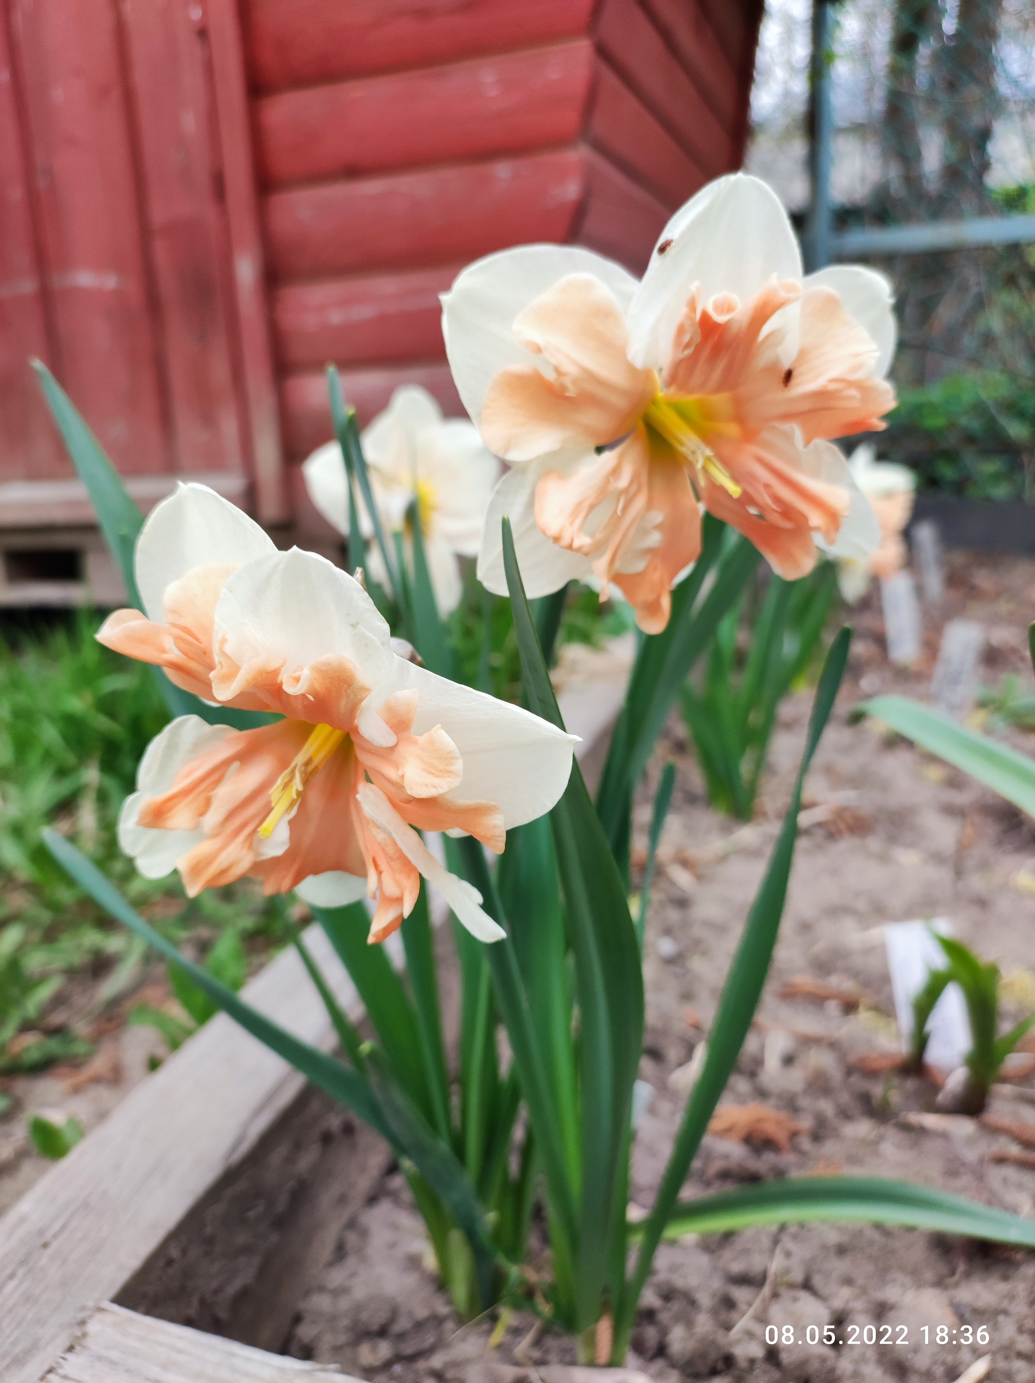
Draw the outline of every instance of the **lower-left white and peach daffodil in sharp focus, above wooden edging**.
M178 869L191 896L245 874L325 906L367 892L372 942L408 916L423 875L476 936L502 936L418 830L502 851L509 827L563 792L570 736L397 657L357 581L278 552L205 485L152 510L136 573L145 613L109 615L101 643L208 701L284 716L255 730L180 716L148 745L119 819L141 874Z

